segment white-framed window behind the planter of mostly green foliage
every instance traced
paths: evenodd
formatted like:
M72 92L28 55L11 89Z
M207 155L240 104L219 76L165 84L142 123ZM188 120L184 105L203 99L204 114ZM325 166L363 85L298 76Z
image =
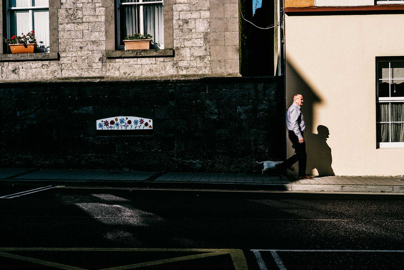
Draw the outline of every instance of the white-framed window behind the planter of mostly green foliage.
M163 0L117 0L118 49L122 40L135 33L150 34L150 49L164 49Z

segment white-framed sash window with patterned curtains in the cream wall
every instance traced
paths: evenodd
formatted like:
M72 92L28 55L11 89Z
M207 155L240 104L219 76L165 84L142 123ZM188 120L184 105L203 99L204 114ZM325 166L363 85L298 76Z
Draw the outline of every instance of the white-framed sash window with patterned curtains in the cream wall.
M377 61L378 147L404 147L404 61Z

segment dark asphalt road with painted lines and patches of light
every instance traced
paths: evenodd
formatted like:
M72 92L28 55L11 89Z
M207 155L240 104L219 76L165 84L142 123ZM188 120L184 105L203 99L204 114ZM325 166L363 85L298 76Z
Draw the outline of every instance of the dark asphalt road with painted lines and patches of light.
M0 197L2 269L404 266L404 195L17 185Z

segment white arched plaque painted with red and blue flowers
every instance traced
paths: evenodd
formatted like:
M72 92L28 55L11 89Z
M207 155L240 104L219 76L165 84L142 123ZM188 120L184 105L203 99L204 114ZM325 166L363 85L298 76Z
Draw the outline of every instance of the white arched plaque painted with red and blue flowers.
M97 120L97 130L151 130L153 120L135 116L117 116Z

